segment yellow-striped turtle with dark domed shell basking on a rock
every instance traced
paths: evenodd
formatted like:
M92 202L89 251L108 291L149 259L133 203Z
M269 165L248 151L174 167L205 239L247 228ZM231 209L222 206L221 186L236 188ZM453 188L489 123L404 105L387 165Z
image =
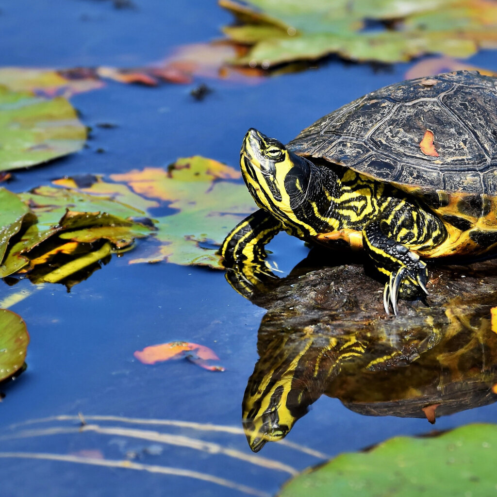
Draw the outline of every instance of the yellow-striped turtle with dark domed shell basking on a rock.
M258 210L226 237L227 278L247 295L273 276L280 231L362 249L386 279L385 312L428 293L426 260L497 247L497 79L459 71L391 84L286 146L255 128L240 166Z

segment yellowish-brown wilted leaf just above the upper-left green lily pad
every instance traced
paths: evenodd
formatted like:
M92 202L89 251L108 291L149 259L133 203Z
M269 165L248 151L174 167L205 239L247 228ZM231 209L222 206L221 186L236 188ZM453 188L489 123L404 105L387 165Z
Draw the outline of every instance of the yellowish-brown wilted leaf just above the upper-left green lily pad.
M47 96L69 98L104 86L92 69L33 69L20 67L0 68L0 85L11 91L32 91Z

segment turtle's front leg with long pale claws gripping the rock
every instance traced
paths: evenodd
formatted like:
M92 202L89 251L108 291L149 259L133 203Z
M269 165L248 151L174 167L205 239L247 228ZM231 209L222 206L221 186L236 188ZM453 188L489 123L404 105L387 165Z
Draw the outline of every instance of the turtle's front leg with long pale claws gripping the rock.
M376 268L389 277L383 292L385 311L390 314L391 305L396 316L399 294L411 298L419 290L428 293L426 264L420 260L417 253L398 241L401 230L398 225L392 230L386 221L373 220L367 223L362 231L364 248L375 262ZM398 233L395 233L396 231Z

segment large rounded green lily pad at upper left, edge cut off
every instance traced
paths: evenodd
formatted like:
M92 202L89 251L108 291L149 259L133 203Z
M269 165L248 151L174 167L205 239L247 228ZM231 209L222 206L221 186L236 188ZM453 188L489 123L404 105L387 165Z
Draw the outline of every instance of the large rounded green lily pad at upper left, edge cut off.
M0 86L0 171L80 150L86 128L62 97L46 99Z

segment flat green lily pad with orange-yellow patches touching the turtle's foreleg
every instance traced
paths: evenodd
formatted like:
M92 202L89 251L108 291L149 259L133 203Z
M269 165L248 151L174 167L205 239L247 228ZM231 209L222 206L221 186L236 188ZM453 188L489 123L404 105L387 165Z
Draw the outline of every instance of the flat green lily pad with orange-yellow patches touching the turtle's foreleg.
M129 205L146 207L147 215L157 222L149 244L133 262L168 261L182 265L205 265L221 268L217 249L227 233L248 212L254 210L247 188L235 180L240 171L212 159L190 157L178 159L167 170L147 167L111 179L124 184L99 180L81 191L112 195ZM74 187L71 180L58 184ZM158 208L170 213L157 216Z

